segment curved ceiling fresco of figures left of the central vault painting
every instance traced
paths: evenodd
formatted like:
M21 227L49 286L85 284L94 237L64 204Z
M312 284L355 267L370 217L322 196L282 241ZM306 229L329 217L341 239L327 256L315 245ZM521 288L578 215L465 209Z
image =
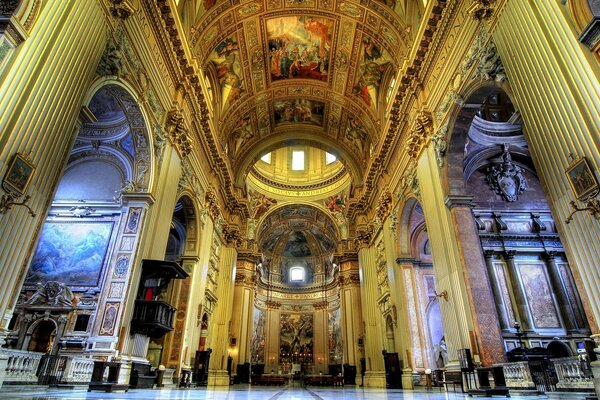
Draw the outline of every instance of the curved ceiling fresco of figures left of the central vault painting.
M220 42L210 54L209 60L216 70L221 108L225 109L245 90L237 35Z

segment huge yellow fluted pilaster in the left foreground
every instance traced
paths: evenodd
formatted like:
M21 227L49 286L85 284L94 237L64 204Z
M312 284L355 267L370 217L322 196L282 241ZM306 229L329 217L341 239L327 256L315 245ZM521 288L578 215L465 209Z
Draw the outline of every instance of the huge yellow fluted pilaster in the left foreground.
M98 2L48 2L0 77L0 176L13 154L28 154L36 167L29 205L37 212L31 218L17 207L0 215L2 318L21 288L26 258L77 135L79 108L104 50L105 33Z

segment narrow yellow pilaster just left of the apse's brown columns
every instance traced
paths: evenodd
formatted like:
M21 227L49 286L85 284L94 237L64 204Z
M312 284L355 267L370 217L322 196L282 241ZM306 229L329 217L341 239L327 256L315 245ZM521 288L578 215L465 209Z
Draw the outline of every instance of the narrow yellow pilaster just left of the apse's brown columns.
M233 287L237 250L228 243L221 248L219 277L217 283L217 309L211 331L212 354L208 369L209 386L229 386L227 357L229 347L229 323L233 306Z

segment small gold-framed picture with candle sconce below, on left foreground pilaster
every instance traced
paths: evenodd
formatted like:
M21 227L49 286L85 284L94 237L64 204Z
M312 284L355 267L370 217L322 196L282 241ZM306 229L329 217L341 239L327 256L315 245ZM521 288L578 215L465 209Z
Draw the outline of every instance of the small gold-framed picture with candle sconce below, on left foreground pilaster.
M20 153L14 155L2 179L2 189L6 193L0 199L0 214L6 214L14 206L23 206L29 210L32 217L35 217L35 212L27 205L31 196L25 194L33 171L35 166L26 156Z

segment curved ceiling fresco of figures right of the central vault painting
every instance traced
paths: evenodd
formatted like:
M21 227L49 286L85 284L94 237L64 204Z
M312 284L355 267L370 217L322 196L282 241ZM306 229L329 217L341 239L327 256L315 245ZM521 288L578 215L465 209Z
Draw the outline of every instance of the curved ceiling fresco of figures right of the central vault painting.
M390 58L368 36L363 38L361 60L358 66L353 92L371 109L377 108L381 79L388 68Z

